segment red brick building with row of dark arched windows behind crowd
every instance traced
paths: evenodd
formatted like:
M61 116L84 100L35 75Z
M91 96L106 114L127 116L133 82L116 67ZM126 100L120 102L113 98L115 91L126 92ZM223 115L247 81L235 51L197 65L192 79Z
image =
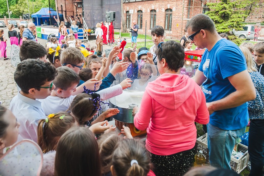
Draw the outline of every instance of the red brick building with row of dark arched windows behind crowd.
M139 34L145 34L147 21L147 34L155 25L165 29L166 36L181 38L187 20L199 13L208 11L207 2L215 0L123 0L123 12L130 28L130 21L136 20L139 25ZM133 14L130 14L133 10Z

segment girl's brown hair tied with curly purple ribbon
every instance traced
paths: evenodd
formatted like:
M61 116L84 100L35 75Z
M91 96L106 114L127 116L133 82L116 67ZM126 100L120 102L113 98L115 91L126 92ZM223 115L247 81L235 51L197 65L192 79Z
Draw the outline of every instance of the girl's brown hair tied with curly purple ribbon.
M93 96L96 95L98 94L94 93L89 95L86 93L80 93L73 99L68 110L77 119L79 125L84 125L86 121L91 120L91 117L95 115L100 104L97 100L96 102L93 101Z

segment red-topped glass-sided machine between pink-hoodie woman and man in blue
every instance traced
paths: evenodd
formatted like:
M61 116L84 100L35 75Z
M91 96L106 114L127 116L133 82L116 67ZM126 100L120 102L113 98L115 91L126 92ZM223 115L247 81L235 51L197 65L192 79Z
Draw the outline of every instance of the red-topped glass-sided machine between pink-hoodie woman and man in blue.
M190 78L195 75L198 66L200 65L201 58L204 54L205 50L194 50L194 51L186 51L184 58L184 65L181 68L181 74L186 74Z

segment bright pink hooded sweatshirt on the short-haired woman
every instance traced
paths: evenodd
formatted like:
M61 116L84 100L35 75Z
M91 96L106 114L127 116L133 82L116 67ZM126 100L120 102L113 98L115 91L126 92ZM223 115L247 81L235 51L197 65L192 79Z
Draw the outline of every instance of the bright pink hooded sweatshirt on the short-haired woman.
M134 117L137 129L147 129L148 151L164 156L192 149L194 122L207 124L209 112L204 93L191 78L165 73L148 83Z

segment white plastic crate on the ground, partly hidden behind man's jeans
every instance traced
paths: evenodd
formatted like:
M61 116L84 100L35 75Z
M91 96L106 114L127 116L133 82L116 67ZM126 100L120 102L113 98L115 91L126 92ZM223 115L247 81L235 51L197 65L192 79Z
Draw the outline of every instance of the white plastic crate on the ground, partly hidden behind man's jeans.
M210 164L209 163L209 150L208 150L208 145L207 145L207 133L196 139L195 149L196 149L196 152L200 150L203 151L206 157L205 162ZM238 144L237 149L238 151L241 151L244 154L244 156L242 156L239 159L236 159L231 156L230 167L231 169L233 169L239 174L248 165L249 152L248 152L248 147L240 143Z

